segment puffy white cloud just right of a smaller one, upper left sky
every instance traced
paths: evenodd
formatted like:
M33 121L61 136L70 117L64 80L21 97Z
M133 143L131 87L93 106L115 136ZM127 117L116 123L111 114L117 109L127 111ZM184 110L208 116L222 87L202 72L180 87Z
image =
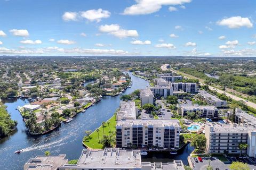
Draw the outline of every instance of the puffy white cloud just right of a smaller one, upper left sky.
M102 10L99 8L98 10L88 10L82 11L81 16L82 18L86 18L89 21L97 21L100 22L102 18L109 18L110 12L106 10Z

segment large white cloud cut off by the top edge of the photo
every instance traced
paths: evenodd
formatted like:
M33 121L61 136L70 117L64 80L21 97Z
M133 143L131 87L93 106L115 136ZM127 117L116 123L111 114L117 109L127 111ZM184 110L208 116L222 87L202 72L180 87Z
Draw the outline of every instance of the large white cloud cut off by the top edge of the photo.
M191 0L136 0L137 4L126 7L125 15L145 15L159 11L163 5L182 5Z

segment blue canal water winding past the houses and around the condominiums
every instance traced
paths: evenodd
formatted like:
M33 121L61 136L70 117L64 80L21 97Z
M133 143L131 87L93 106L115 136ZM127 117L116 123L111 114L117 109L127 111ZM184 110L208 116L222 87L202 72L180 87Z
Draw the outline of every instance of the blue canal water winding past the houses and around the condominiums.
M143 89L149 86L148 82L134 77L132 78L132 87L127 88L124 94L130 94L136 89ZM53 132L45 135L32 136L27 134L25 123L15 108L28 103L27 99L12 99L5 102L7 111L11 114L13 120L18 121L17 131L9 137L0 140L0 169L23 169L23 165L37 155L44 155L44 151L49 150L52 155L66 154L68 159L78 159L84 147L82 139L85 130L94 131L103 121L107 121L113 116L119 107L119 96L103 96L102 100L91 106L85 113L79 113L69 123L62 123L61 126ZM21 154L14 154L14 151L23 149ZM187 164L187 156L191 152L191 147L187 146L183 154L175 157L164 154L153 154L142 158L151 162L171 162L172 159L181 159ZM157 158L157 160L155 160Z

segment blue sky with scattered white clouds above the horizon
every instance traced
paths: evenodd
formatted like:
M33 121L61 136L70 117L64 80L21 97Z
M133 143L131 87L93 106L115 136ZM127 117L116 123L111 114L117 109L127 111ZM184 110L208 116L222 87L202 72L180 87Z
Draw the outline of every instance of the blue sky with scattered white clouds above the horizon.
M0 0L0 55L256 56L255 0Z

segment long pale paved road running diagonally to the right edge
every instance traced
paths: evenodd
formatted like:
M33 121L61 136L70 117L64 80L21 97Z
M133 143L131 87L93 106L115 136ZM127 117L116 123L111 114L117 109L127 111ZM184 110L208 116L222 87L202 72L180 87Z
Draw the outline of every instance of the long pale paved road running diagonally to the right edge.
M167 69L167 65L168 65L168 64L162 65L162 66L161 66L161 69L162 69L163 71L168 70L168 69ZM175 72L175 73L177 73L177 74L180 74L180 73L177 72L176 70L173 70L173 69L170 69L170 70L173 71L173 72ZM191 75L189 75L189 74L186 74L186 73L182 73L182 74L183 74L183 75L187 75L187 77L193 77L193 76L191 76ZM204 83L202 82L202 79L199 79L199 78L196 78L196 79L199 80L200 85L207 85L207 86L209 86L208 84L204 84ZM225 92L225 91L223 91L223 90L216 89L216 88L214 88L214 87L212 87L212 86L209 86L209 89L210 89L210 90L216 90L219 94L225 94L225 95L227 95L227 96L229 96L229 97L231 97L231 98L233 98L234 100L237 100L237 101L243 100L243 101L245 102L245 105L250 106L250 107L253 107L253 108L256 108L256 104L255 104L255 103L252 103L251 101L245 101L245 99L243 99L243 98L234 96L234 95L229 94L229 93L227 93L227 92Z

